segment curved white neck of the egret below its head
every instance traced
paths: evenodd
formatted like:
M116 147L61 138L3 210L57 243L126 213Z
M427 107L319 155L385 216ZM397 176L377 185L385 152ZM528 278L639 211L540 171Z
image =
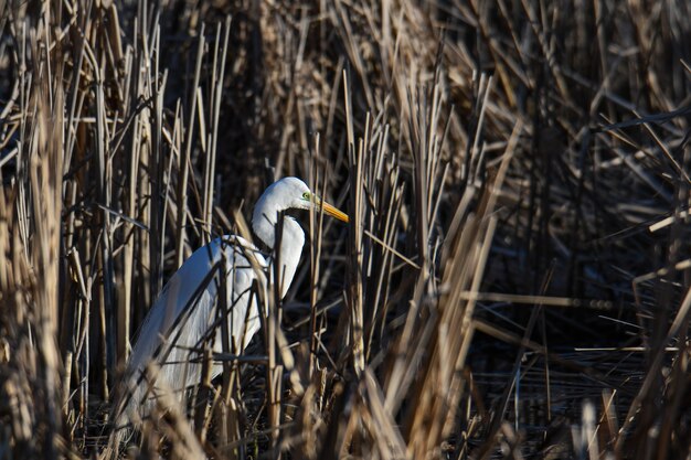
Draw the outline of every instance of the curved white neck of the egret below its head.
M269 267L272 282L275 282L274 264L276 260L280 263L278 280L280 282L280 297L284 298L300 263L300 255L305 245L305 232L295 218L284 216L280 247L276 249L278 210L275 206L259 204L263 203L258 203L254 210L252 227L257 237L274 252Z

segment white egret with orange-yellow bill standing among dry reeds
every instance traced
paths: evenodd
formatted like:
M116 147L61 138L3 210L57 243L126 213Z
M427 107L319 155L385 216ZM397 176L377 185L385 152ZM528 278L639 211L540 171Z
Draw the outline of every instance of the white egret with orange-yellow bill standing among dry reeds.
M157 393L169 389L180 398L185 388L200 382L202 364L190 359L198 357L193 350L199 350L204 340L212 339L214 352L223 351L219 319L227 318L231 350L235 353L244 351L259 329L257 303L266 298L267 277L273 279L274 261L280 264L283 298L290 287L305 244L305 233L298 222L285 215L280 247L275 247L278 213L309 210L310 206L321 206L326 214L348 222L344 213L312 196L305 182L285 178L266 189L252 217L254 233L272 249L270 256L265 258L240 236L226 235L194 252L170 278L149 310L132 349L126 373L128 388L114 405L119 428L135 413L139 416L148 414ZM226 315L217 311L223 304L217 299L223 282ZM264 291L263 296L256 295L257 289ZM150 361L160 366L155 382L143 377ZM212 377L221 372L222 366L214 365Z

